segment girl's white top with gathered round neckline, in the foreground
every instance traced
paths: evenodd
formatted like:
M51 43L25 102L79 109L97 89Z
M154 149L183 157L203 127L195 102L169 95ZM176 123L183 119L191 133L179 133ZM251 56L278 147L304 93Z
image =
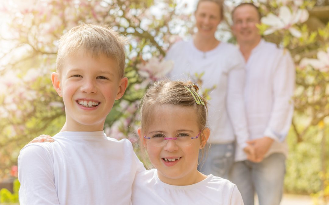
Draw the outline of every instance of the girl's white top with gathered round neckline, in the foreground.
M136 175L131 200L134 205L243 205L237 186L229 180L210 174L196 184L175 186L162 182L156 169Z

